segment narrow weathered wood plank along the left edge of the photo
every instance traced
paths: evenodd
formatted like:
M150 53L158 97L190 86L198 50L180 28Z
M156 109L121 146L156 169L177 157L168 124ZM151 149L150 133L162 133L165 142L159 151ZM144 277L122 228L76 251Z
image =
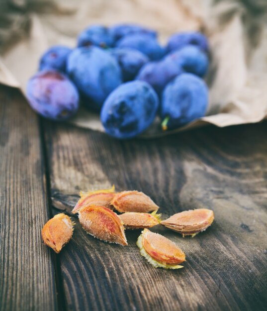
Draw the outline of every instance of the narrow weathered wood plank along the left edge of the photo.
M38 118L0 86L0 310L57 310L54 264L41 240L49 218Z

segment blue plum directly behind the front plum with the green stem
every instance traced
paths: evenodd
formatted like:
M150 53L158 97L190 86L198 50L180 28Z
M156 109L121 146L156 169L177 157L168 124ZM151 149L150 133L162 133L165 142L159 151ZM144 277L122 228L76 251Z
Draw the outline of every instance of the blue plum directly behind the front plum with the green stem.
M176 64L182 72L191 73L199 77L205 76L209 66L207 55L199 48L189 45L167 55L166 59Z

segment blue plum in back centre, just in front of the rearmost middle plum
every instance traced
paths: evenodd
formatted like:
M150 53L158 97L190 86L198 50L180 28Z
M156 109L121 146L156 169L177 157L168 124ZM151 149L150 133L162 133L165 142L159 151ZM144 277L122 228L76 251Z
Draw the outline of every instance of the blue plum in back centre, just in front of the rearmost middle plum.
M161 59L165 54L157 39L148 34L137 33L125 36L116 42L116 47L136 49L153 61Z

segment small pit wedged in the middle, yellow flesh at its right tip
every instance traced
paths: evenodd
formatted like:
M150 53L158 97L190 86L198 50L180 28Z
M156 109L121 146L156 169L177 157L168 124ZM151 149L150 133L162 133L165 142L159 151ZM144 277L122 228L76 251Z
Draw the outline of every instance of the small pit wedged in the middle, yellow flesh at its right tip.
M156 212L151 214L127 212L119 215L119 218L122 220L125 229L145 229L158 225L160 216Z

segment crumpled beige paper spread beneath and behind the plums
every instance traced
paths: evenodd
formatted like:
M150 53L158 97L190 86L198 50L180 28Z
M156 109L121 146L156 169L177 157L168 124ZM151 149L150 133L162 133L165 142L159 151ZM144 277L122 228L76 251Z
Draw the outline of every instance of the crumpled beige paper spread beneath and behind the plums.
M75 47L77 34L90 24L140 23L158 30L162 44L176 31L201 30L211 47L207 115L170 132L162 132L156 119L142 136L163 136L205 124L259 122L267 116L267 3L250 4L248 8L234 0L57 0L54 11L28 14L28 36L1 55L0 82L25 92L42 53L53 44ZM83 107L69 122L104 131L99 115Z

